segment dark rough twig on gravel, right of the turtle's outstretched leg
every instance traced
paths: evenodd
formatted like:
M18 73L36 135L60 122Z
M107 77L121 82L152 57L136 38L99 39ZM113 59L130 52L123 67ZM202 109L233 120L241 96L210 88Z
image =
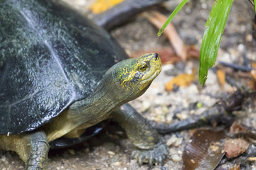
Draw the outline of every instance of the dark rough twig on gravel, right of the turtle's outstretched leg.
M242 101L252 94L252 92L248 92L245 89L238 89L238 91L235 91L235 93L229 98L215 103L212 108L204 111L203 115L194 115L191 118L171 124L159 124L154 121L151 121L151 124L159 133L162 134L199 128L206 125L231 125L234 118L234 115L231 114L232 111L238 111L241 107Z

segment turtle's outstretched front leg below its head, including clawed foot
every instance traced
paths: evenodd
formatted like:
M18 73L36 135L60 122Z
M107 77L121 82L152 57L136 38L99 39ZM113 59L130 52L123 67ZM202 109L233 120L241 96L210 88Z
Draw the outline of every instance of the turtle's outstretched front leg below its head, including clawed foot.
M156 130L142 115L129 104L124 104L113 111L112 118L124 128L129 140L136 147L132 157L137 159L139 164L163 164L169 153L168 149Z

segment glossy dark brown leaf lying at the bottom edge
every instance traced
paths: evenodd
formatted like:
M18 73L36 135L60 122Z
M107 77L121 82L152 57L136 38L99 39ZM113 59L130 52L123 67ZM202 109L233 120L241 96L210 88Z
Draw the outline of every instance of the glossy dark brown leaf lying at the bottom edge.
M215 169L223 152L223 131L197 130L183 150L183 170Z

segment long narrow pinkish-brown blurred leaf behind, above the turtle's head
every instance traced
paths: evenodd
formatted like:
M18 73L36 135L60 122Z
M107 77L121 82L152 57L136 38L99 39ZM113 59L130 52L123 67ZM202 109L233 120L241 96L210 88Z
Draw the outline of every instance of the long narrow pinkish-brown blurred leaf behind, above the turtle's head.
M167 17L157 11L145 12L144 16L156 26L156 28L160 29L161 26L166 22ZM164 34L167 36L169 41L171 42L172 47L174 47L174 51L176 55L180 56L182 60L186 60L187 52L186 47L183 45L183 41L179 37L176 29L170 23L164 30Z

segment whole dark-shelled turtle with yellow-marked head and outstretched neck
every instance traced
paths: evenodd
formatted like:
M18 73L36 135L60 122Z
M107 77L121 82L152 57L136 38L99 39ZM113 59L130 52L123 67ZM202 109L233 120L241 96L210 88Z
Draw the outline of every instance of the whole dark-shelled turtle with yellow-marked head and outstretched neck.
M59 1L0 1L0 149L26 169L47 169L50 148L83 142L113 120L139 164L163 164L168 149L127 102L161 72L156 53L129 58L85 16Z

